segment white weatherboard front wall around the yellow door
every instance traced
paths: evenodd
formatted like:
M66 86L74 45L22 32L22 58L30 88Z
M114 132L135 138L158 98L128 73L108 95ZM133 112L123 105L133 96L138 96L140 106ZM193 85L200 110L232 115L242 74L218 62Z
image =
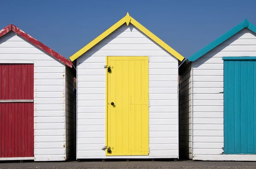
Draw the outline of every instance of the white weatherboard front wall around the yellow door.
M149 56L149 156L105 156L106 56ZM77 159L178 158L177 59L122 25L77 59Z

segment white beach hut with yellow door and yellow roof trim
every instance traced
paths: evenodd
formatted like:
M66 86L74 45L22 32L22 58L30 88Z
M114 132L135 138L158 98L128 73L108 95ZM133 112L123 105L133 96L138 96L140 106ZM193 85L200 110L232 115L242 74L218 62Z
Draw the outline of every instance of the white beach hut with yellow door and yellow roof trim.
M127 13L70 56L77 69L77 159L178 158L184 58Z

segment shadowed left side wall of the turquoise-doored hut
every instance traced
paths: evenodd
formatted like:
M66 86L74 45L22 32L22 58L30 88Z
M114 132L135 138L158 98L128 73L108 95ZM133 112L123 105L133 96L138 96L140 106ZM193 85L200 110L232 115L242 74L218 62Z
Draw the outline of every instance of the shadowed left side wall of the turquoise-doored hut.
M182 73L181 73L182 71ZM192 156L192 63L180 72L179 131L180 156Z

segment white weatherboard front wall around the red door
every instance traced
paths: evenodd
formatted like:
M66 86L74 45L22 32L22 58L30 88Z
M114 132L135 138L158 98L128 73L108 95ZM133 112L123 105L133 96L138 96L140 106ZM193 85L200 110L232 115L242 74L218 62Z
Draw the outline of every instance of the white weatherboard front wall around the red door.
M13 31L0 37L0 63L34 64L33 159L66 160L65 65Z

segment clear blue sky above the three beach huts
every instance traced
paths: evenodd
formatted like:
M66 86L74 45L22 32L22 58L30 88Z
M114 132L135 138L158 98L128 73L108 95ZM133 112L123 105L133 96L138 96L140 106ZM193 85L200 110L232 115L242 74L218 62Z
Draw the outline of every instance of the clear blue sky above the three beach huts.
M4 0L0 7L0 29L12 23L65 57L127 11L186 58L245 17L256 24L256 0Z

